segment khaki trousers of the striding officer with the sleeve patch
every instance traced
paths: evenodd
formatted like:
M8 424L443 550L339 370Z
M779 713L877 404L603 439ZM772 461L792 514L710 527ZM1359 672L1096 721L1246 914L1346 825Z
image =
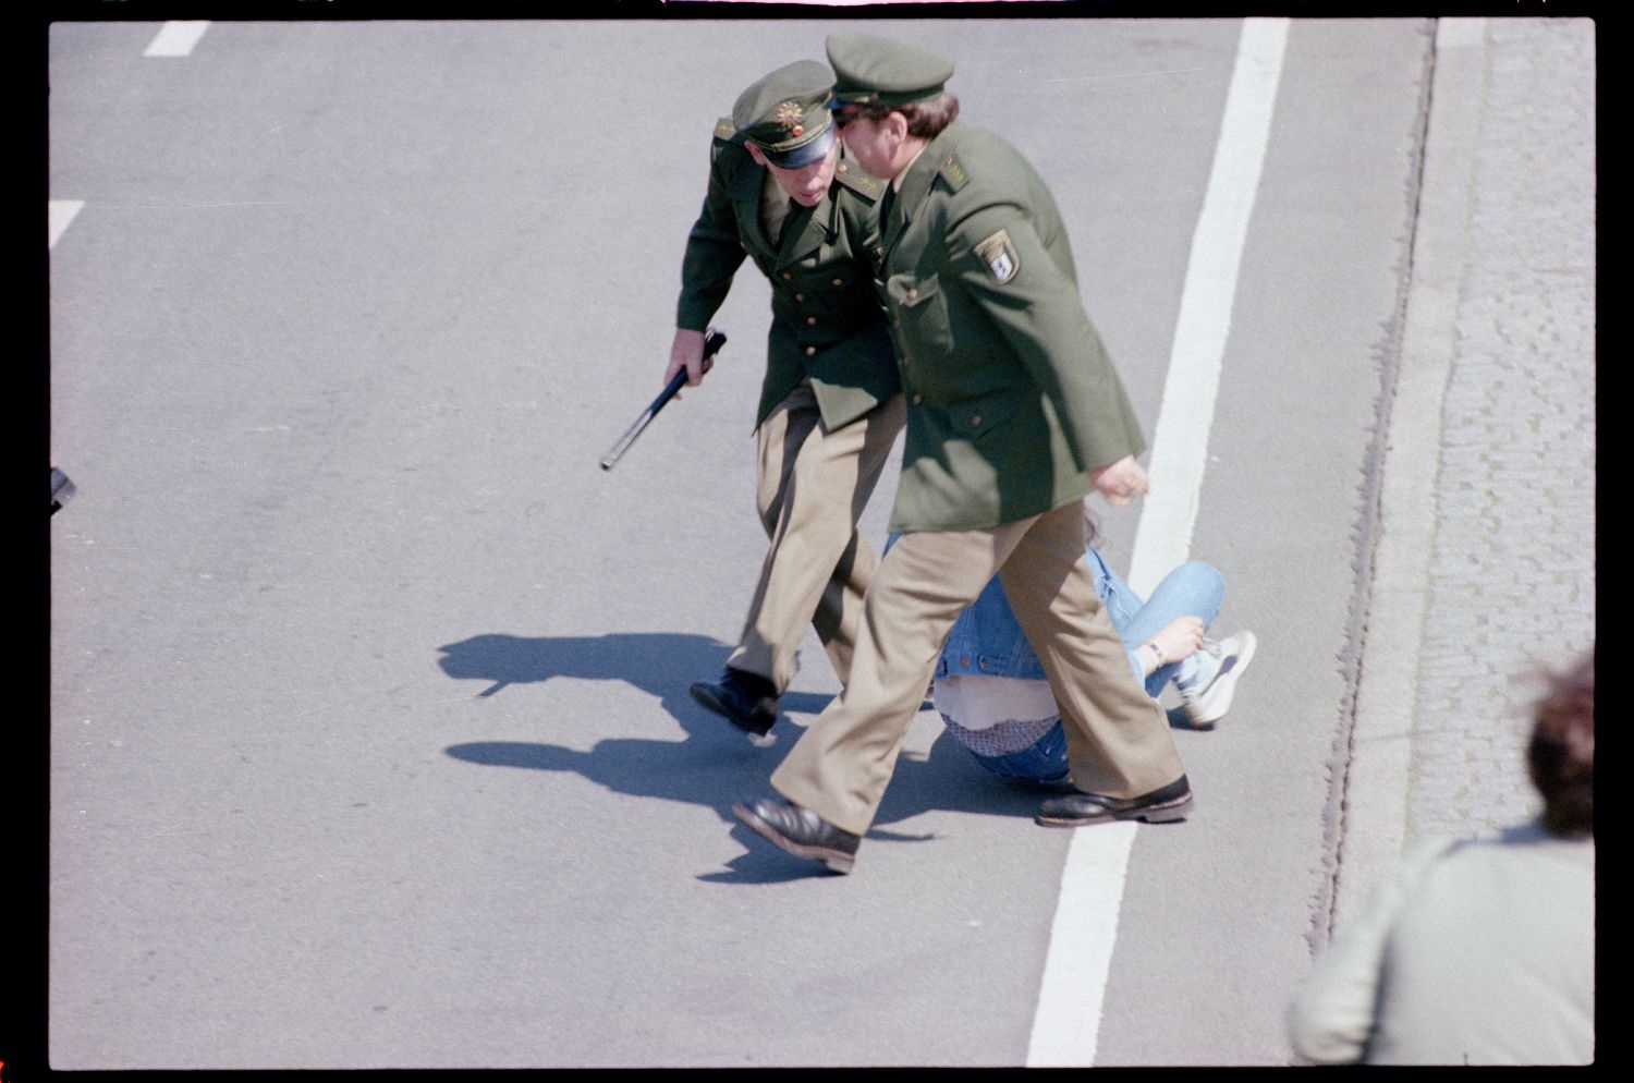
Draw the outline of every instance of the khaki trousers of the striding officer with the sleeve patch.
M948 632L995 570L1060 707L1074 786L1139 797L1185 774L1168 717L1134 678L1095 593L1074 500L990 529L897 539L868 590L851 680L771 786L835 827L868 833Z

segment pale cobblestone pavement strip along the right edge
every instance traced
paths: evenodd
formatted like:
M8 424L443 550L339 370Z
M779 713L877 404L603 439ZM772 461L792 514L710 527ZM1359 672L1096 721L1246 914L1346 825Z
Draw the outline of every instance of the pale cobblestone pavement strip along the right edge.
M1529 817L1523 678L1595 629L1595 28L1493 18L1405 841Z

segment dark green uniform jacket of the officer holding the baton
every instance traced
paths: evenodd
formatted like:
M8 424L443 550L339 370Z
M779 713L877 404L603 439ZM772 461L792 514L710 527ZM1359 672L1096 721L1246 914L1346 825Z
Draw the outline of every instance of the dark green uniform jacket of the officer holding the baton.
M773 245L760 224L766 167L757 165L730 121L716 127L709 194L686 238L676 327L704 330L747 253L771 281L771 332L758 426L807 376L824 425L855 421L900 390L891 335L874 292L869 245L884 185L845 152L815 207L796 207Z

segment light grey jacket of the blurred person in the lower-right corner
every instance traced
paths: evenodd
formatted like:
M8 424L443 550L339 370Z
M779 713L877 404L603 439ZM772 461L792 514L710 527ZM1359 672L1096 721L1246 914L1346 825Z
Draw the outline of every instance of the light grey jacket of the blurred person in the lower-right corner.
M1299 988L1319 1063L1595 1058L1595 840L1541 823L1412 848Z

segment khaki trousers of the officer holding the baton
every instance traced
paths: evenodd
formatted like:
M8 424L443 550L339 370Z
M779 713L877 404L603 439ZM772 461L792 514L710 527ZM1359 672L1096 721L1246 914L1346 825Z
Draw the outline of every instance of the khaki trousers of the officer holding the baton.
M856 519L905 418L902 395L892 395L830 433L801 381L760 423L755 505L771 547L727 666L771 680L781 696L810 624L840 683L850 678L863 595L879 567Z

